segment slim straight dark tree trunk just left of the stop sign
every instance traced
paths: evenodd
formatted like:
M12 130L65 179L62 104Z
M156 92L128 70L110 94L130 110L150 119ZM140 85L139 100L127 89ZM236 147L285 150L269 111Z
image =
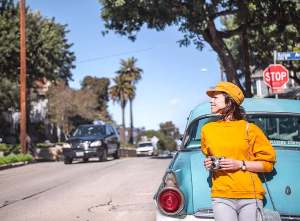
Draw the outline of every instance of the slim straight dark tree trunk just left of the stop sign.
M251 95L251 73L250 73L250 57L249 57L249 44L248 36L243 33L241 36L242 41L242 61L243 61L243 71L245 76L245 86L248 94Z

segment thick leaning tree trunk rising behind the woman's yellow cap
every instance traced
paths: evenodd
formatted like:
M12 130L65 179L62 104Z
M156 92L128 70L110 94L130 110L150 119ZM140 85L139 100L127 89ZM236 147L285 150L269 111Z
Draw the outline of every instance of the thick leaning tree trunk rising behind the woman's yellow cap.
M227 46L225 45L225 42L222 39L221 35L216 30L213 21L207 21L207 29L201 34L203 36L204 41L206 41L211 46L211 48L218 54L224 66L227 81L237 85L241 89L245 97L251 97L251 95L248 94L241 86L237 76L233 57L230 51L228 50Z

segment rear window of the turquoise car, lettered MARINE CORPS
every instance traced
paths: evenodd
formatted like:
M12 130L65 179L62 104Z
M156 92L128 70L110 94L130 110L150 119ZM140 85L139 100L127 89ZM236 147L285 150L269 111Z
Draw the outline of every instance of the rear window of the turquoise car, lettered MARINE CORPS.
M218 116L196 120L186 131L183 148L199 148L201 128L204 124L220 119ZM258 126L271 144L300 147L300 115L247 115L246 120Z

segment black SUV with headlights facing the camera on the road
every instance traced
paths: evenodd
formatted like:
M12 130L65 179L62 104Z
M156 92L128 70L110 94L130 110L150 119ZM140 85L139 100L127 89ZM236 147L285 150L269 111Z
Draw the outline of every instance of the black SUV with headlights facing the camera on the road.
M72 136L62 144L63 162L72 163L73 158L99 157L105 161L107 155L114 159L120 157L119 136L112 124L80 125Z

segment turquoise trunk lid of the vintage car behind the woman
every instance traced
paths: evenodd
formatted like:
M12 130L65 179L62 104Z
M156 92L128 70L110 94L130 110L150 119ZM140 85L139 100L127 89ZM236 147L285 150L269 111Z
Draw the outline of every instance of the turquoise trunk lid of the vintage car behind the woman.
M300 207L296 202L300 198L300 148L276 147L275 150L277 163L272 172L265 173L274 204L280 213L299 214ZM199 209L211 208L212 172L205 170L204 159L202 153L190 157L194 213ZM266 190L262 174L259 177ZM268 194L265 194L263 202L265 208L272 209Z

